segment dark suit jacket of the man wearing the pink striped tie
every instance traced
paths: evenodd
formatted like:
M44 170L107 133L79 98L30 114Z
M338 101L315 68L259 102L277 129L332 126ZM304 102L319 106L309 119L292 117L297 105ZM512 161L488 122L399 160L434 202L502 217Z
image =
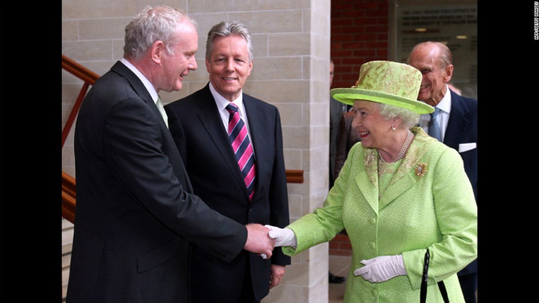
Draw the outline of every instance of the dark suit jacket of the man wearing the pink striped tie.
M279 111L246 94L243 94L243 103L257 173L251 202L209 85L165 106L170 132L195 193L208 206L241 224L271 224L284 228L289 224L289 216ZM192 252L194 302L199 299L202 302L236 303L247 265L250 266L255 298L261 300L269 292L270 264L290 264L290 258L280 249L273 251L271 263L248 252L240 254L230 264L197 245Z

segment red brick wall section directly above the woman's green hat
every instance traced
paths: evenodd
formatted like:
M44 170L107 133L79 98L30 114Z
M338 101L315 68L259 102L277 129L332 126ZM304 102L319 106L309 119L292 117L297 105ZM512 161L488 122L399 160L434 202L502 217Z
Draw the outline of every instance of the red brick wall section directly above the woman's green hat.
M389 0L331 0L333 86L350 87L360 67L388 60Z

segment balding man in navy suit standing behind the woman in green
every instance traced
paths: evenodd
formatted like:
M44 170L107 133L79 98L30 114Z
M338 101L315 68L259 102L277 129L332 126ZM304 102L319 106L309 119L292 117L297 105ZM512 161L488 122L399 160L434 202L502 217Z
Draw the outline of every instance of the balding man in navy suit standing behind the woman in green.
M414 46L408 64L423 74L417 100L436 109L430 115L421 115L420 126L460 153L477 201L477 100L461 97L447 87L453 64L445 44L429 41ZM477 259L458 277L466 303L475 303Z

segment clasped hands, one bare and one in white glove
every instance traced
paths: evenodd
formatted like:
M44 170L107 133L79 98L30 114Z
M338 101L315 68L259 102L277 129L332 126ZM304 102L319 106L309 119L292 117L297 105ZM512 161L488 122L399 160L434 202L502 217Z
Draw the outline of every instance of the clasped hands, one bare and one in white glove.
M276 246L296 246L294 231L271 225L247 224L247 242L244 249L259 253L262 258L271 258Z

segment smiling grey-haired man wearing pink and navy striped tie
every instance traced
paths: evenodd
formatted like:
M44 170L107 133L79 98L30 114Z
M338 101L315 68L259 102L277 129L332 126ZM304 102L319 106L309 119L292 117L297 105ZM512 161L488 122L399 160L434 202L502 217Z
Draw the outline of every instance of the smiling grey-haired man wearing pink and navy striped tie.
M253 67L244 24L222 22L206 41L210 82L165 107L195 194L239 223L289 223L282 132L276 107L243 93ZM231 263L192 245L191 297L200 302L259 302L278 285L290 258L244 251Z

